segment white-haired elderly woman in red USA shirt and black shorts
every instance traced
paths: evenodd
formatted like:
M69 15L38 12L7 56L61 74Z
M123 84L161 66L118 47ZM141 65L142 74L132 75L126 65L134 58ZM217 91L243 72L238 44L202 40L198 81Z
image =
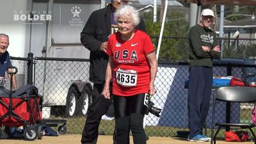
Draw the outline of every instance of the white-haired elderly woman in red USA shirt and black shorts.
M114 19L119 32L109 37L109 60L102 95L110 99L112 80L117 143L129 143L131 130L134 144L145 144L143 118L148 94L156 93L156 53L150 36L136 29L140 23L138 10L129 5L121 6Z

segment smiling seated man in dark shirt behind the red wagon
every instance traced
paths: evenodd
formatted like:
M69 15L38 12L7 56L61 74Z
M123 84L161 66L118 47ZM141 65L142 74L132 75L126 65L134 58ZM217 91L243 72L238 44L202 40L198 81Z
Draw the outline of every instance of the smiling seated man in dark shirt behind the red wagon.
M6 81L5 72L8 67L12 67L12 63L10 61L10 54L7 50L9 46L9 36L0 33L0 93L5 92L4 82ZM8 69L8 72L12 72L12 68ZM10 79L10 74L8 74ZM17 81L15 75L13 75L12 79L12 87L13 90L17 90Z

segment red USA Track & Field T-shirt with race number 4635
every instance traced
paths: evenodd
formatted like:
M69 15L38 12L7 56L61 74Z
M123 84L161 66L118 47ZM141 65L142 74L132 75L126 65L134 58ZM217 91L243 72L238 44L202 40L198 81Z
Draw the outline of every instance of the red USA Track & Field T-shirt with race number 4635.
M140 30L136 30L127 41L122 40L120 32L109 37L107 53L113 58L114 95L149 92L150 64L146 54L153 51L150 36Z

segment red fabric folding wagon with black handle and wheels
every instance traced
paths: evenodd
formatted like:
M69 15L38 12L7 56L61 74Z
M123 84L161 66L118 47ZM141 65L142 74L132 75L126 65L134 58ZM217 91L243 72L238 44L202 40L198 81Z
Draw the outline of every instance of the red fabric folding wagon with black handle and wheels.
M35 86L28 84L15 93L1 93L0 126L0 137L4 134L3 126L9 134L10 127L23 126L25 140L42 139L42 96Z

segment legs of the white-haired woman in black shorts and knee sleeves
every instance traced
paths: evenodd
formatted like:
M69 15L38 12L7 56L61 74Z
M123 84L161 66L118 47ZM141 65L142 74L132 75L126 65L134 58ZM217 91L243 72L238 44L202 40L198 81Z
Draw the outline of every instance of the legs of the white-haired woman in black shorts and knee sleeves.
M143 118L147 110L144 105L145 93L131 97L114 95L117 144L129 144L129 132L132 131L134 144L146 144Z

